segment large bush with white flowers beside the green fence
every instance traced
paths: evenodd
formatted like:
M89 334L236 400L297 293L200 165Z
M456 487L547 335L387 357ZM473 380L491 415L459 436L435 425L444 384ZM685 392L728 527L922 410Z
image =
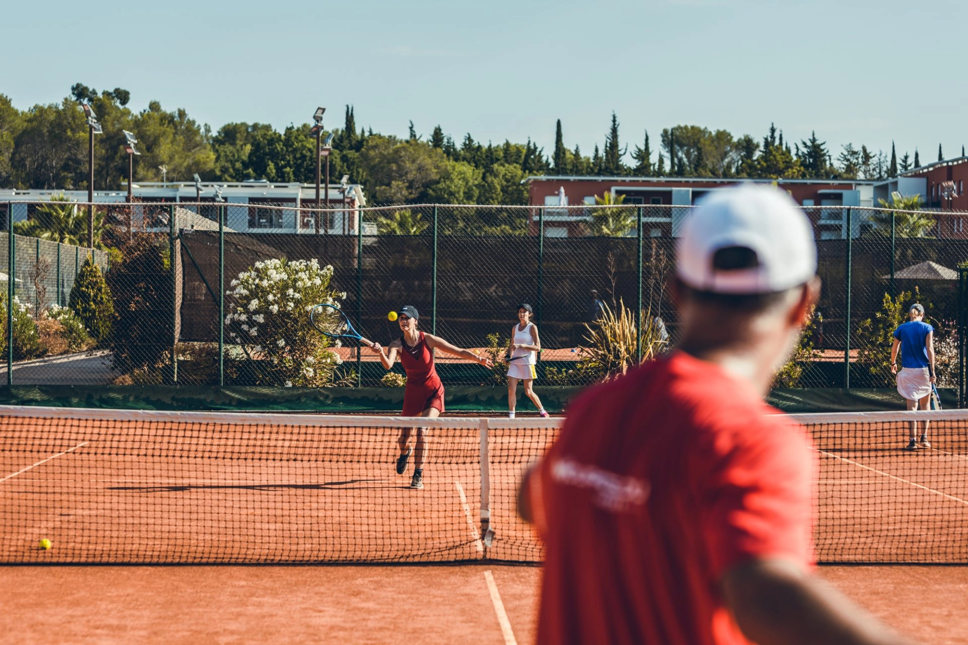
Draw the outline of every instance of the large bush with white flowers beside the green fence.
M331 288L332 279L333 267L320 267L315 259L280 258L256 262L231 281L227 336L259 360L257 385L333 384L342 360L330 349L333 339L319 334L309 320L316 305L338 306L347 297Z

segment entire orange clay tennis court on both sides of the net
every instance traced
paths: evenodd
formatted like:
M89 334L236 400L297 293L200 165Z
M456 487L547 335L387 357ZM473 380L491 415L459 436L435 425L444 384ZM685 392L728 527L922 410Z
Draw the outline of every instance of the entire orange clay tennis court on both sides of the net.
M962 424L939 420L932 449L908 454L900 450L906 425L890 414L811 426L822 455L818 557L963 563ZM326 426L288 416L243 432L172 419L75 420L51 431L49 422L4 418L0 560L461 564L3 567L0 604L13 609L0 619L3 633L48 642L532 639L540 569L501 562L541 558L513 494L552 430L488 422L498 426L485 455L496 531L488 546L476 420L432 428L426 487L411 490L392 470L398 430L390 420ZM49 550L38 547L42 537ZM968 568L821 572L927 642L968 642L959 622L968 622Z

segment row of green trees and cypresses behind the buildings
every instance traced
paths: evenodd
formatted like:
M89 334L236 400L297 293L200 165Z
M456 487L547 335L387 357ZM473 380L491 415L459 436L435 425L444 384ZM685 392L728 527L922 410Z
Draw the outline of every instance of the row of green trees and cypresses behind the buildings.
M268 124L229 123L213 132L182 108L168 111L152 101L136 112L130 100L122 88L98 92L76 83L61 103L21 111L0 94L0 188L87 188L88 129L81 103L91 104L104 129L95 138L96 190L124 186L124 130L135 132L142 153L136 181L184 181L193 173L215 182L315 181L316 140L308 123L282 132ZM358 128L351 105L343 121L342 128L323 134L333 134L330 176L349 175L372 202L387 204L525 204L522 180L541 174L882 180L921 165L917 149L913 157L908 152L898 157L893 144L890 155L848 143L834 156L815 132L806 140L784 140L772 124L762 139L679 125L660 132L657 151L649 132L629 151L613 113L602 146L595 144L589 156L578 145L564 144L560 120L550 155L530 140L484 143L467 133L458 142L439 126L422 134L412 121L406 138L381 134Z

